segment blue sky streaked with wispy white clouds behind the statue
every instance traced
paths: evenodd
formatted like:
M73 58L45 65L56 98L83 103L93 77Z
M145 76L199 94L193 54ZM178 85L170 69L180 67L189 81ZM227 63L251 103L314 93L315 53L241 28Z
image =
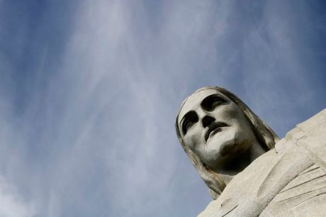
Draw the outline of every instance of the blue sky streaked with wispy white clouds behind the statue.
M0 0L0 216L196 216L174 132L213 85L280 137L326 108L323 1Z

